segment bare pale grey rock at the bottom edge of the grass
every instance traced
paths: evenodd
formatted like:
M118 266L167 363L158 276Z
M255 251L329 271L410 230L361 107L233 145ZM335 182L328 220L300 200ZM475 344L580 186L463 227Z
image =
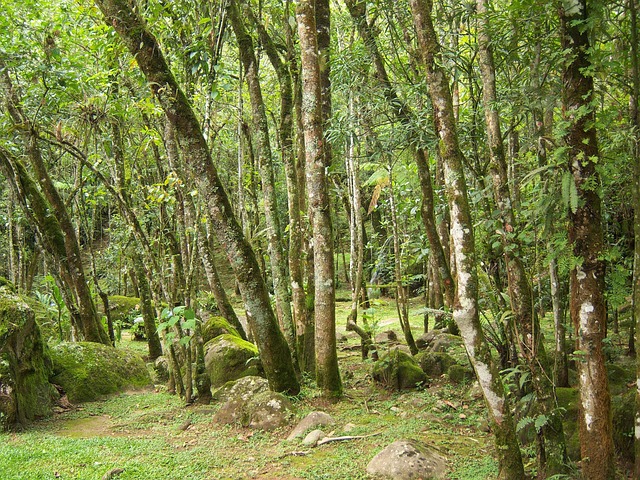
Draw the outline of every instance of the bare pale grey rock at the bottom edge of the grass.
M446 473L446 461L423 443L399 440L369 462L367 473L375 479L440 479Z

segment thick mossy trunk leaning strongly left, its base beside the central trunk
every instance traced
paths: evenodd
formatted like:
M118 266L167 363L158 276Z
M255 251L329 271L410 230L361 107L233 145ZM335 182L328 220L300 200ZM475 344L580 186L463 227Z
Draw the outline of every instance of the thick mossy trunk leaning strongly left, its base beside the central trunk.
M156 38L126 0L96 0L107 24L113 26L136 58L185 148L186 167L208 200L214 231L225 248L240 291L260 358L273 390L296 394L300 390L291 353L271 309L269 292L260 275L255 254L242 234L213 164L202 129L184 92L178 86Z

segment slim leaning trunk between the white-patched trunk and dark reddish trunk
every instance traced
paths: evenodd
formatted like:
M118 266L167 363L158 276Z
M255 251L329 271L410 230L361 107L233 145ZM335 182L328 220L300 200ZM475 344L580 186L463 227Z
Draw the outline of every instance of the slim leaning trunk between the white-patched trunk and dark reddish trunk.
M520 354L531 372L531 385L536 395L533 412L536 417L545 416L547 422L537 430L538 478L568 473L562 419L555 408L553 384L545 372L546 352L540 335L540 324L533 309L533 294L517 240L513 200L509 189L507 159L502 142L496 70L489 34L487 1L477 0L478 12L478 63L482 77L482 96L490 155L493 191L502 220L503 256L507 269L507 282L511 310L520 333Z

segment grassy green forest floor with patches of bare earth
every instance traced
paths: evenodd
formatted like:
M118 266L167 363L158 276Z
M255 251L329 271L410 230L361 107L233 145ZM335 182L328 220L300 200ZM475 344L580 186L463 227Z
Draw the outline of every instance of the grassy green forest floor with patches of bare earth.
M340 318L347 308L338 304ZM399 332L393 301L375 308L379 330ZM421 331L422 315L412 322ZM292 427L263 432L221 426L212 421L219 405L185 406L156 386L78 405L25 432L0 434L0 478L354 480L368 478L367 463L384 447L407 438L444 455L449 479L495 478L493 439L483 431L486 411L472 384L438 378L419 390L385 390L372 381L371 362L362 361L358 345L353 337L339 344L341 400L327 402L309 381L292 400L299 418L321 410L336 420L333 435L375 434L367 438L308 448L285 440ZM119 347L143 352L145 344L125 339ZM535 452L524 453L533 468Z

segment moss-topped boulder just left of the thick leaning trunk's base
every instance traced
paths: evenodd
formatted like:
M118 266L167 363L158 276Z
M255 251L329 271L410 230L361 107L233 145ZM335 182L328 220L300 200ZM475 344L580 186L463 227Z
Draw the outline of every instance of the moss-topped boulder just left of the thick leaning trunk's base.
M226 333L205 345L205 368L213 388L249 375L260 375L258 348L236 335Z

